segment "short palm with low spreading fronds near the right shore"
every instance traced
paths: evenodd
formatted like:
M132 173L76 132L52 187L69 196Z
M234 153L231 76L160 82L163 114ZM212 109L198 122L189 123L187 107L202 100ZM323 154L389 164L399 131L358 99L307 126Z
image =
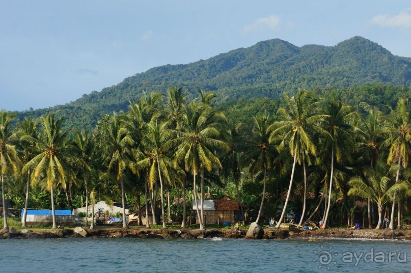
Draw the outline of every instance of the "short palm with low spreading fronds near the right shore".
M372 200L378 207L378 224L376 230L381 228L382 208L389 201L394 193L400 190L406 190L407 186L403 183L393 183L393 179L387 175L386 166L381 162L374 168L365 167L364 177L360 176L351 178L348 182L350 189L348 195L359 196L364 199Z

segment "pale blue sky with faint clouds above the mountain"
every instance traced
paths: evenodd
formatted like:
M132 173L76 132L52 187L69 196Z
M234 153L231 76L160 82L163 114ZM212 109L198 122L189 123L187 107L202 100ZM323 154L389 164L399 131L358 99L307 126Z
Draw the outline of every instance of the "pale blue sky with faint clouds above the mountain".
M259 41L362 36L411 57L409 0L0 0L0 109L65 104Z

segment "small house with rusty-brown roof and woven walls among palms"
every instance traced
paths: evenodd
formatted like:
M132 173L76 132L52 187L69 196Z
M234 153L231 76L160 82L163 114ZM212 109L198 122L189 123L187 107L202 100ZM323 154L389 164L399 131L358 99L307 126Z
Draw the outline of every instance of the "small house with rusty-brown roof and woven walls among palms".
M200 200L197 200L200 210ZM224 223L233 223L242 221L243 216L240 213L240 202L229 196L222 196L218 199L204 200L204 224L205 225L223 225ZM193 214L196 215L196 224L199 219L196 212L196 204L193 204Z

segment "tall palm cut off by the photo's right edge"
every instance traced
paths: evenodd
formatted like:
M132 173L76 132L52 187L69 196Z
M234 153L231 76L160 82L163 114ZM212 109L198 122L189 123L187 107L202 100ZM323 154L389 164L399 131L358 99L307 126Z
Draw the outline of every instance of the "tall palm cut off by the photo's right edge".
M402 98L398 100L396 110L392 111L391 116L387 118L387 125L382 131L388 135L383 145L390 146L387 163L390 165L398 162L395 179L395 182L398 182L401 166L404 169L408 166L409 154L411 153L411 124L407 100ZM394 228L395 194L393 194L390 229Z

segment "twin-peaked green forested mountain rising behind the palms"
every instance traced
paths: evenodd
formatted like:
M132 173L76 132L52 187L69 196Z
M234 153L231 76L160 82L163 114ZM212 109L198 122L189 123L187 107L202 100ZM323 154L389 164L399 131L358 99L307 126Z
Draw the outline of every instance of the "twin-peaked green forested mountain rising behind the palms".
M362 37L353 37L336 46L302 47L273 39L208 60L155 67L74 102L21 112L19 116L55 112L58 116L65 115L70 127L91 129L103 114L125 109L128 101L139 99L143 91L165 92L172 86L187 90L189 99L197 96L198 89L214 91L220 102L227 103L239 98L278 98L284 93L296 93L299 88L321 93L335 90L347 100L359 103L361 96L367 97L359 86L373 83L382 83L383 90L388 86L393 92L389 99L396 101L399 93L408 93L411 86L411 58L394 56ZM372 86L375 85L365 87ZM389 104L381 89L368 89L377 92L374 100ZM355 90L363 94L359 97Z

